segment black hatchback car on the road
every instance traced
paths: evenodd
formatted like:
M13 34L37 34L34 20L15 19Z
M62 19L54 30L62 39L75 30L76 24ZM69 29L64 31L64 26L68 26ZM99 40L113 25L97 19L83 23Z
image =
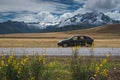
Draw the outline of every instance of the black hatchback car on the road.
M68 39L59 41L58 46L92 46L93 42L93 38L89 36L72 36Z

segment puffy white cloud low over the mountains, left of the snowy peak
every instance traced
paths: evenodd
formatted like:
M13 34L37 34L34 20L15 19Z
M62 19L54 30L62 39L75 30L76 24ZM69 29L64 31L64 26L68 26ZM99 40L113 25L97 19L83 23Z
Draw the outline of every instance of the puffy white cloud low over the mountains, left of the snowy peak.
M58 17L52 15L49 12L43 11L39 13L23 13L12 19L12 21L22 22L40 22L40 23L56 23Z

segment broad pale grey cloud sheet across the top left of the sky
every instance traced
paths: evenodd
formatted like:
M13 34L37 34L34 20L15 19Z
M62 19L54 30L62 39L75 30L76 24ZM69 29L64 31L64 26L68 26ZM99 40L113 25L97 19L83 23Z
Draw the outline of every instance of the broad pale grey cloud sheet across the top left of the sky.
M67 5L50 1L47 2L44 0L40 0L40 2L36 2L35 0L0 0L0 12L8 11L55 12L61 7L63 9L61 11L64 11Z

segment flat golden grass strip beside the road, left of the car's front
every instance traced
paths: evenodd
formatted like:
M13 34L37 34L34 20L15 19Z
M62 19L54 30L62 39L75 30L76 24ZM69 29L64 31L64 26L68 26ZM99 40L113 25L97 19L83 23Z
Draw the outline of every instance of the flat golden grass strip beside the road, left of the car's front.
M55 47L57 39L0 39L0 47Z

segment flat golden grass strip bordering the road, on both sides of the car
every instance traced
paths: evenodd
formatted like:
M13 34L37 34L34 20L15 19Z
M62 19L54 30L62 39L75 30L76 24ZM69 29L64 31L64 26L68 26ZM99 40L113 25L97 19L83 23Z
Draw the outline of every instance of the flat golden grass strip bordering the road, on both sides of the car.
M57 47L61 39L0 39L0 47ZM95 39L94 47L120 47L120 39Z

